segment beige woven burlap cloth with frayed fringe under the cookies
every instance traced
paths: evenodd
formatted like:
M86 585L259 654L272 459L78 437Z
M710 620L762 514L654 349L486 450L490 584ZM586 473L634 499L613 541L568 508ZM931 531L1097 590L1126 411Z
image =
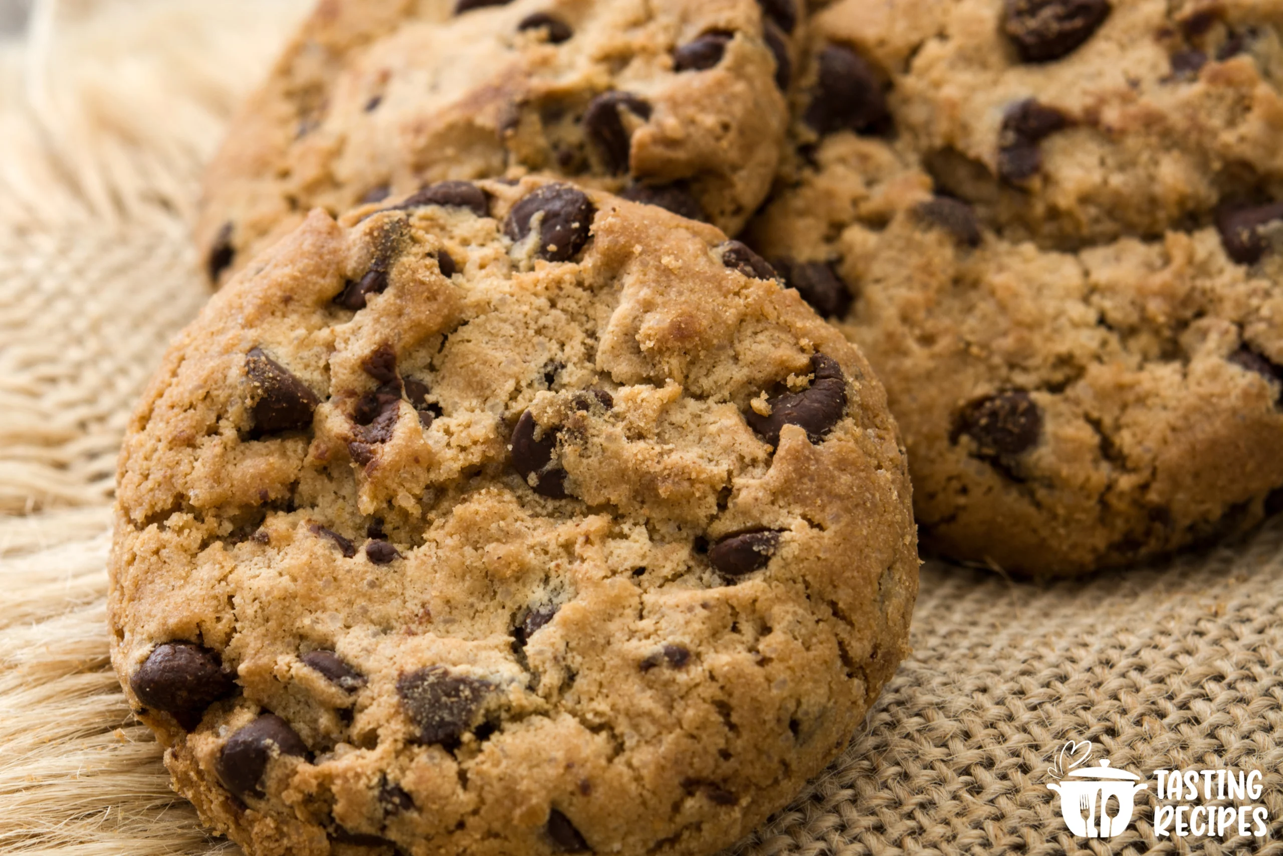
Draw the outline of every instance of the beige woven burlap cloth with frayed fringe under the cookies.
M4 0L0 0L4 1ZM108 666L104 561L132 398L205 294L199 167L307 0L35 4L0 44L0 853L239 852L204 835ZM922 569L913 656L847 753L742 842L797 853L1283 853L1283 525L1073 583ZM1074 838L1066 740L1259 769L1270 834Z

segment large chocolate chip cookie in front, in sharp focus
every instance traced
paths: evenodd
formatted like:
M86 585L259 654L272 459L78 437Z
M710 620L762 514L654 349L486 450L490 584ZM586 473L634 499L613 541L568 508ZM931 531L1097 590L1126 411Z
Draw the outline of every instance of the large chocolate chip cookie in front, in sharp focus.
M748 248L525 178L321 210L121 458L113 662L258 855L708 853L906 652L907 466Z

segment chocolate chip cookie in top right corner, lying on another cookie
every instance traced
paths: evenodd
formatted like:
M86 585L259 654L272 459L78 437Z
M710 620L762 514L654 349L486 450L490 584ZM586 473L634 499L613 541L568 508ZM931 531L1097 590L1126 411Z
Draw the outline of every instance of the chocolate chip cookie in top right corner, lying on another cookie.
M887 87L938 187L1051 249L1283 196L1278 0L843 0L815 27Z

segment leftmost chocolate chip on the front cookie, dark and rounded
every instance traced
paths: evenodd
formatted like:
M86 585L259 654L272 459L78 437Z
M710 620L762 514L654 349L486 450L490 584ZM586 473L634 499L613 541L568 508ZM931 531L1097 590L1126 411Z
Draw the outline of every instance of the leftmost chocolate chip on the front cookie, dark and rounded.
M157 646L130 679L130 689L148 707L173 716L192 730L205 708L236 692L236 681L218 655L190 642Z

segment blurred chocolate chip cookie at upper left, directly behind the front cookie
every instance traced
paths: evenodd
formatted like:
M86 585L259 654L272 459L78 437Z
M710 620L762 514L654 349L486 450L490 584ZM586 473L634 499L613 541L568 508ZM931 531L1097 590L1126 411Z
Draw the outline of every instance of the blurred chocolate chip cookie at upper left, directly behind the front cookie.
M788 124L797 0L325 0L234 123L218 285L298 226L444 180L572 176L735 234Z

